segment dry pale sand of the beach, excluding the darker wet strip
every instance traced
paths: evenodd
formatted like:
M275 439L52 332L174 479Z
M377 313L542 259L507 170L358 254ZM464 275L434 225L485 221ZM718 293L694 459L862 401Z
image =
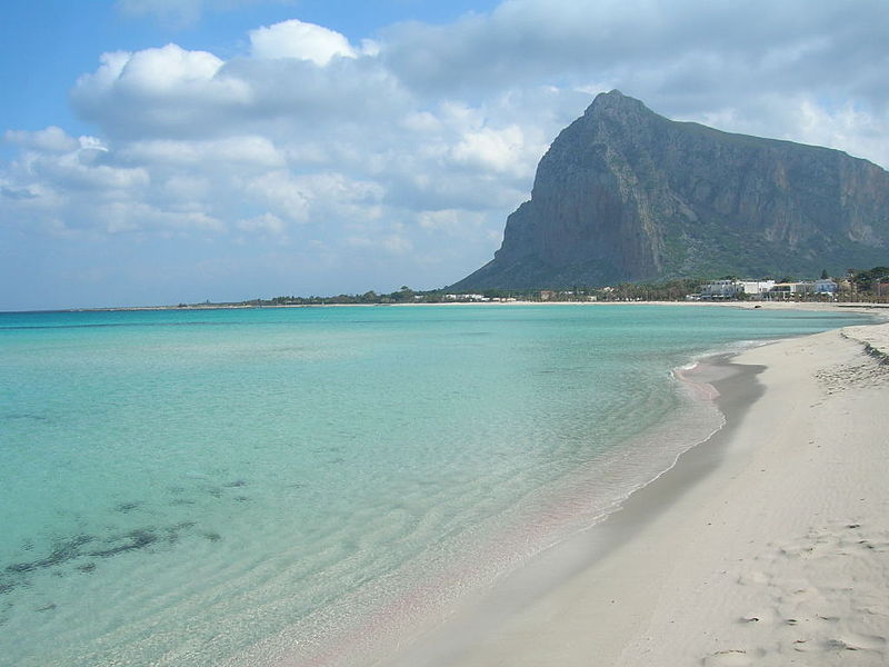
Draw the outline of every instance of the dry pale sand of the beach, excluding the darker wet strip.
M859 342L889 325L845 334L738 359L766 395L616 664L889 664L889 366Z

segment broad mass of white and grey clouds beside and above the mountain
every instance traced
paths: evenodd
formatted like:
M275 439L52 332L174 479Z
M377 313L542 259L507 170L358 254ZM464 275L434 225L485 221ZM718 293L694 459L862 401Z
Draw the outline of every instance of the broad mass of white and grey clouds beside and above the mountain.
M182 17L222 7L118 6ZM548 143L612 88L670 118L889 166L887 32L882 0L855 12L839 1L505 0L360 46L292 19L250 30L229 58L176 43L104 53L70 92L96 137L6 130L19 153L0 166L0 220L273 240L299 253L294 277L318 271L330 290L361 271L352 285L443 285L490 259Z

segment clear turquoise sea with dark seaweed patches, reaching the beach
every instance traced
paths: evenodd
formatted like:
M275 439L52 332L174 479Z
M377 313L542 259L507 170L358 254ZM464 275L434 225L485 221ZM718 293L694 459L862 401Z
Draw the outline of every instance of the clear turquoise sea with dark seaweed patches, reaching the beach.
M0 315L0 665L360 665L720 425L691 307Z

